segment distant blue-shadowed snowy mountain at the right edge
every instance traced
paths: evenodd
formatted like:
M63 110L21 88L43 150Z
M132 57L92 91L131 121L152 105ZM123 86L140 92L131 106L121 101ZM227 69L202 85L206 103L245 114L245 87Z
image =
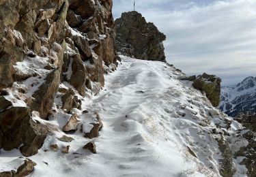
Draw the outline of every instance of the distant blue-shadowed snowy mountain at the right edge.
M229 116L239 112L256 112L256 77L245 78L236 86L221 88L221 110Z

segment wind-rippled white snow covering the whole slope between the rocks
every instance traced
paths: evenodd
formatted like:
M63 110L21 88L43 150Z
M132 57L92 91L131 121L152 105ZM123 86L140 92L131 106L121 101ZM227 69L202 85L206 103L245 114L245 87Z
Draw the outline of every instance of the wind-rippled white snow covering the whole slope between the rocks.
M75 110L83 123L91 118L91 112L100 114L104 127L94 139L98 153L83 150L91 140L79 131L69 135L74 138L70 143L59 142L57 137L64 133L56 131L40 152L30 157L38 164L31 176L220 176L218 130L231 123L226 131L236 152L246 145L235 138L241 125L213 108L189 82L177 80L182 74L174 67L121 57L117 71L105 76L106 86L100 95L83 102L82 110L89 113ZM35 119L40 120L36 115ZM41 122L61 129L67 120L59 117ZM70 145L70 152L53 152L51 144ZM8 157L5 162L17 157L14 152L2 155ZM240 160L236 159L236 176L245 176Z

